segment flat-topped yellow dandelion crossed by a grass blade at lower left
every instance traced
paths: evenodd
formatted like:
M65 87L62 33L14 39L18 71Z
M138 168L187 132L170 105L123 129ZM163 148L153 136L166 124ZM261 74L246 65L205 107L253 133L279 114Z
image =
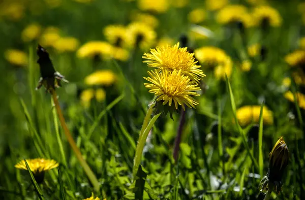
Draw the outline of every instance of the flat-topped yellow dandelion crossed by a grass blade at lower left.
M38 183L42 183L45 172L57 168L59 165L55 160L44 158L26 159L26 162ZM27 170L24 160L15 164L15 168Z

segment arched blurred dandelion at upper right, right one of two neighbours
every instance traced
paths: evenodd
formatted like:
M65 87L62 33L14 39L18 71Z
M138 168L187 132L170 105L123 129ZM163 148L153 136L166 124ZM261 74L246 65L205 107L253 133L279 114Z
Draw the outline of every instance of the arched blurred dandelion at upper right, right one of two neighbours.
M259 6L253 11L253 24L256 26L264 25L263 23L268 23L268 25L277 27L282 24L282 17L280 13L270 7L270 6Z

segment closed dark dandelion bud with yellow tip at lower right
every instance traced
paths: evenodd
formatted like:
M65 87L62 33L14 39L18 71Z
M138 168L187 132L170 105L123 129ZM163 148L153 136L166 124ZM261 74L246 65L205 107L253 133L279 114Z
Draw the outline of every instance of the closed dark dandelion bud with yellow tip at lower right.
M280 137L269 153L269 169L259 184L261 192L270 195L272 191L280 193L282 190L282 177L289 162L289 149L283 137ZM266 197L265 197L266 199Z

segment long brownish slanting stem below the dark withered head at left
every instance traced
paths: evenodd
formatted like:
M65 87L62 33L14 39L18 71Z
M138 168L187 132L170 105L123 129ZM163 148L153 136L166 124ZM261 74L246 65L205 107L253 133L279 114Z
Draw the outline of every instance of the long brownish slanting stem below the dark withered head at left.
M92 183L94 189L96 191L99 191L100 185L99 185L98 179L96 178L96 176L94 175L94 173L90 169L87 162L83 159L80 150L76 146L76 143L71 136L71 133L70 133L70 130L69 130L67 124L66 124L62 109L60 109L59 102L58 102L58 99L57 99L57 94L56 94L55 90L52 90L51 93L52 93L54 105L55 105L55 108L56 108L56 111L57 111L57 114L58 114L60 124L62 125L62 127L64 129L67 140L68 140L72 150L74 151L78 161L80 162L80 165L83 167L86 175L88 176L90 182Z

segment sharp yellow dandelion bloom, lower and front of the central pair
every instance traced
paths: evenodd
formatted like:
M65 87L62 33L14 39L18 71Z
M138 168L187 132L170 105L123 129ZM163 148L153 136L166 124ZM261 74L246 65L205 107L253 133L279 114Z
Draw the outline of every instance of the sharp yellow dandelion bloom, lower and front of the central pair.
M157 96L156 101L162 101L163 105L172 103L175 109L180 105L185 110L185 105L189 108L195 108L199 103L191 96L199 96L196 91L200 88L191 81L188 76L182 74L181 70L167 71L163 69L147 72L149 77L144 77L150 83L144 83L145 87L149 89L150 93Z

